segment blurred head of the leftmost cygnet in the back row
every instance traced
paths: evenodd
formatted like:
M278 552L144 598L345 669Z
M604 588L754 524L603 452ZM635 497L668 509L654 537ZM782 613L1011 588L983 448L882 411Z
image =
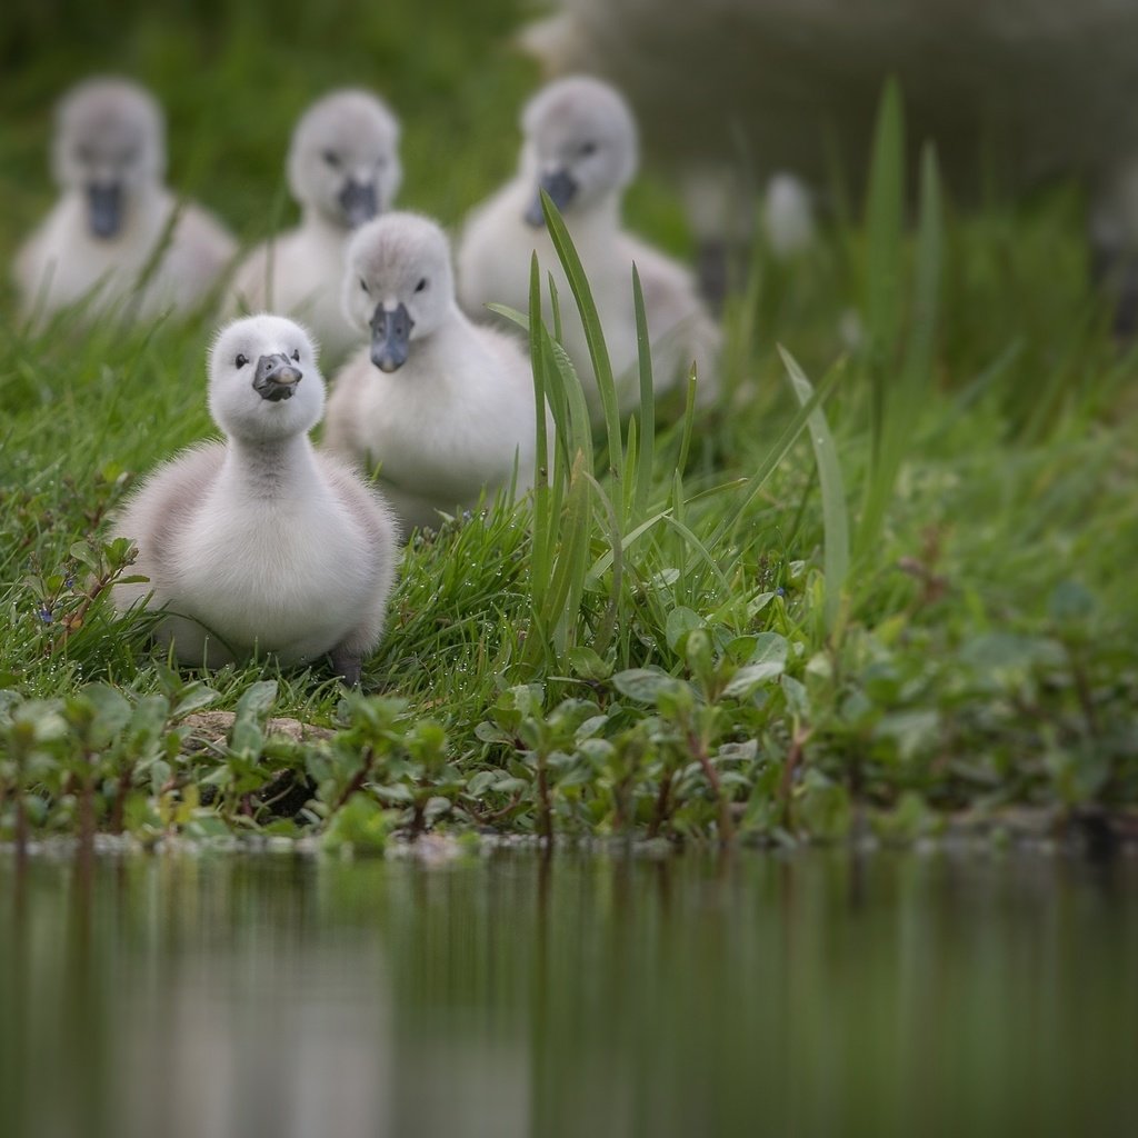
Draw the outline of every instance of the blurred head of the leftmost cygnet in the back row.
M135 83L91 79L64 96L52 170L63 189L86 199L92 236L114 238L133 201L162 184L165 134L158 104Z

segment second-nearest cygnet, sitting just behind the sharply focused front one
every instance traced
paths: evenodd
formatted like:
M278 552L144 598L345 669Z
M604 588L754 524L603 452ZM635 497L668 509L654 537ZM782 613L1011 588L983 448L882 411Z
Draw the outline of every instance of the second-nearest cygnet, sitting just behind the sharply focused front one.
M405 529L475 505L516 469L519 493L533 485L529 361L514 339L462 314L438 225L393 213L361 229L344 305L371 345L336 378L325 445L379 467Z

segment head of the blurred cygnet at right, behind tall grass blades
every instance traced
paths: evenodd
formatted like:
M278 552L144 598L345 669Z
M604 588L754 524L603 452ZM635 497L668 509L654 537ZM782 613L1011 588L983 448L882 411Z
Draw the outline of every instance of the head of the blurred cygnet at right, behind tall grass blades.
M521 115L521 170L533 179L526 221L543 225L538 190L563 214L584 213L619 193L636 173L636 121L624 97L586 75L543 88Z

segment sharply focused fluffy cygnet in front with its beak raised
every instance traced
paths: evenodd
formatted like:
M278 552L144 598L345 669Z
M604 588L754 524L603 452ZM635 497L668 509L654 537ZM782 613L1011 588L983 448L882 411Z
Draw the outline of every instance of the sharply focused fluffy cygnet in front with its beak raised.
M325 653L348 683L379 643L398 531L382 498L313 450L324 409L312 340L282 316L224 328L209 353L209 411L224 442L159 467L117 517L149 578L114 589L165 608L158 636L183 663L254 652Z

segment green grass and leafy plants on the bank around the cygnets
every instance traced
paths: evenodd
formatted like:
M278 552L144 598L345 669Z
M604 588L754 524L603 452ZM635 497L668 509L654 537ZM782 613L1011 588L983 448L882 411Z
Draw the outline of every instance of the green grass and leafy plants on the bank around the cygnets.
M454 6L429 38L410 6L213 22L137 6L114 34L89 6L51 50L42 10L18 6L0 39L3 256L51 199L50 99L100 64L158 92L172 182L248 240L290 218L283 146L327 88L391 101L401 201L453 225L512 171L536 82L503 46L521 18L508 0L478 24ZM572 286L558 304L583 310L604 428L555 328L533 322L555 419L534 496L412 539L360 693L272 660L172 668L145 618L106 603L124 552L104 544L108 511L211 429L212 314L39 338L5 319L0 839L906 840L962 813L1029 806L1061 825L1132 809L1135 357L1088 284L1073 188L958 212L929 147L910 228L904 132L888 88L864 222L834 222L790 263L753 249L716 409L644 395L619 421L604 314L550 215ZM665 183L645 175L627 212L686 251ZM543 287L535 266L530 313ZM641 369L648 393L646 355ZM234 719L203 748L205 707ZM270 715L328 731L274 735Z

